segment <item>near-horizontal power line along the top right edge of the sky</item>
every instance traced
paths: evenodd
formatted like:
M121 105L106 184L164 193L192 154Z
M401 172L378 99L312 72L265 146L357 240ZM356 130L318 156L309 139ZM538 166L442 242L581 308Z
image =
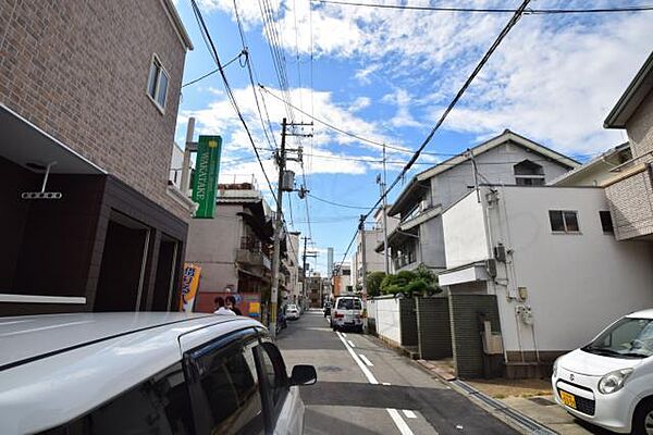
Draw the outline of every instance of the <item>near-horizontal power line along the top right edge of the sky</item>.
M516 9L504 8L447 8L447 7L419 7L410 4L380 4L360 3L354 1L336 0L311 0L311 2L323 4L341 4L348 7L366 7L377 9L396 9L407 11L431 11L431 12L470 12L470 13L515 13ZM525 15L551 15L551 14L580 14L580 13L609 13L609 12L646 12L653 11L653 5L624 7L624 8L596 8L596 9L525 9Z

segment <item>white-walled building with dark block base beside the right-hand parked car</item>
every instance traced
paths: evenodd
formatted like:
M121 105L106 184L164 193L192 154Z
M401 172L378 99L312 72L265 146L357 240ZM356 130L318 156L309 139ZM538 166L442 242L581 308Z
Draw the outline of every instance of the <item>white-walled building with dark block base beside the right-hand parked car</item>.
M485 315L501 334L509 377L541 376L557 356L653 304L653 250L615 239L600 187L483 186L444 211L443 226L439 277L463 376L482 375L488 358L481 323L470 328L469 318Z

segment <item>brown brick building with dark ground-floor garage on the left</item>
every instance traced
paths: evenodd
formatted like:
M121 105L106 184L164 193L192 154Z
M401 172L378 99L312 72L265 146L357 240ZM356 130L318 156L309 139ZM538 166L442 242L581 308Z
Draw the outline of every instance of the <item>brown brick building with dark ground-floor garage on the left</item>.
M0 2L0 315L176 307L189 49L171 0Z

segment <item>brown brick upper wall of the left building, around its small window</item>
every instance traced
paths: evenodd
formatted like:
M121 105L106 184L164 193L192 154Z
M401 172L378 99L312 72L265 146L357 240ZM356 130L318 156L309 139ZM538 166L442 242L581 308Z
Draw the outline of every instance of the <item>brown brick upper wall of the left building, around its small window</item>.
M146 94L153 53L164 113ZM0 2L0 103L188 221L167 194L184 59L160 0Z

